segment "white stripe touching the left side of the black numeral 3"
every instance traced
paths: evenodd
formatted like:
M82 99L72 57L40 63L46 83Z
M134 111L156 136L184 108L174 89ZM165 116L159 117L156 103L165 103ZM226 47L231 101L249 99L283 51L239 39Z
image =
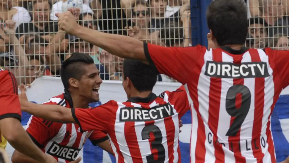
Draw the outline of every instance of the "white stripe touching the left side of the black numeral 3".
M134 107L141 107L139 104L131 103ZM142 130L145 127L145 122L135 122L134 123L134 128L136 131L136 138L137 142L139 144L139 150L142 155L142 162L145 163L147 162L147 157L151 155L151 149L150 149L150 142L148 139L142 140Z

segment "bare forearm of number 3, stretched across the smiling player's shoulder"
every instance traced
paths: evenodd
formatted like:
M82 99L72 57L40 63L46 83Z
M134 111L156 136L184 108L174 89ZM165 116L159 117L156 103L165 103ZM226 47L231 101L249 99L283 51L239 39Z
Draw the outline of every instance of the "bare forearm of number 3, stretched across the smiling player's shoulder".
M59 105L40 105L20 100L21 110L36 117L60 123L76 123L71 109Z

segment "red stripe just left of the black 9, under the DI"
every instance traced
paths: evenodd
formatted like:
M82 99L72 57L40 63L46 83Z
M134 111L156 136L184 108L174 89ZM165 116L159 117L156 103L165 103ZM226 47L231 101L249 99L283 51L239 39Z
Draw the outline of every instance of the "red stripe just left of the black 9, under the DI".
M213 61L222 62L222 51L215 49L213 55ZM220 101L221 101L222 79L211 77L210 89L209 89L209 119L208 125L213 133L213 145L215 148L215 163L225 162L225 154L222 149L222 144L217 143L217 132L220 114Z

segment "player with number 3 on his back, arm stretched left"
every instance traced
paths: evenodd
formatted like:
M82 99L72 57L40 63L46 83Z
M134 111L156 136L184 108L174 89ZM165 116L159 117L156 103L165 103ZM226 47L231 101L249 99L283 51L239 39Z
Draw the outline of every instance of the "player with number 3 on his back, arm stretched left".
M67 109L23 101L23 111L44 119L77 123L80 131L108 133L117 162L181 162L179 119L189 110L184 87L160 96L152 93L157 81L149 65L123 62L122 86L126 102L109 101L91 109Z

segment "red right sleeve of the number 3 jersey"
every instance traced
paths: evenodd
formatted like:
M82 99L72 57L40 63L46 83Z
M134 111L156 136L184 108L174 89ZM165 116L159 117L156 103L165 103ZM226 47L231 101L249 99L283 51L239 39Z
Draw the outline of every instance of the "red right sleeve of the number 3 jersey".
M175 110L178 112L179 118L190 110L189 99L184 85L173 92L165 91L160 97L168 98L168 101L174 105Z

